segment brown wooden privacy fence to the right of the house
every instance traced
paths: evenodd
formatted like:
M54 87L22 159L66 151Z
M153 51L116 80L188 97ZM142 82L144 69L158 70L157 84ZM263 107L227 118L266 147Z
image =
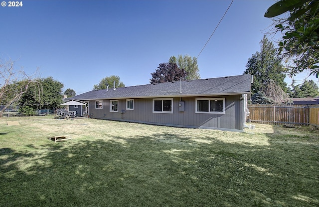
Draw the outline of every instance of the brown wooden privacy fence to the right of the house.
M319 127L318 105L248 104L248 120L263 124L313 125Z

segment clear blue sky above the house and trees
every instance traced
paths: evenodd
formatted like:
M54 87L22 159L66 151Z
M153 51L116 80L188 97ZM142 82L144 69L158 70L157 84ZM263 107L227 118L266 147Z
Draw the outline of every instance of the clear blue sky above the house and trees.
M52 76L77 95L111 75L126 86L149 84L170 56L197 57L230 2L22 0L22 7L0 6L0 57L28 73L39 68L41 77ZM260 51L271 24L264 12L274 2L233 1L198 57L201 78L243 73Z

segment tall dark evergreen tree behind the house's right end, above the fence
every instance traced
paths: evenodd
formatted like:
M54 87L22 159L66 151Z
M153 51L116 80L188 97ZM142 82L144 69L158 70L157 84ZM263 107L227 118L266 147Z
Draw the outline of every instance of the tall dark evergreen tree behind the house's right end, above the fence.
M283 91L287 91L285 83L285 68L274 44L264 35L260 41L260 52L256 52L248 59L244 74L254 75L254 83L251 86L252 93L261 91L262 86L275 81Z

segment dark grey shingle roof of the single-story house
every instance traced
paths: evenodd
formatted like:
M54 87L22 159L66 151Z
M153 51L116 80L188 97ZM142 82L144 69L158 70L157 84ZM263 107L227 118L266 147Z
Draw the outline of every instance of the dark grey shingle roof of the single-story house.
M72 98L77 100L150 98L175 96L210 96L250 93L251 75L227 76L198 80L154 83L123 88L92 90Z

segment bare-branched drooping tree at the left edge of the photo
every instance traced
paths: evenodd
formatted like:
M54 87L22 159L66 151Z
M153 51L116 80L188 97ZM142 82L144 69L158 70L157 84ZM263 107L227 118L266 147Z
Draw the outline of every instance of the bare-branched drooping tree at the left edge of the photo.
M0 59L0 117L12 104L17 103L30 86L37 86L33 77L22 70L15 70L14 61ZM40 90L38 90L39 92Z

